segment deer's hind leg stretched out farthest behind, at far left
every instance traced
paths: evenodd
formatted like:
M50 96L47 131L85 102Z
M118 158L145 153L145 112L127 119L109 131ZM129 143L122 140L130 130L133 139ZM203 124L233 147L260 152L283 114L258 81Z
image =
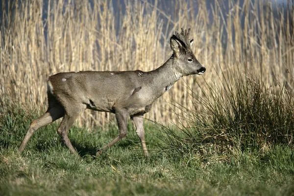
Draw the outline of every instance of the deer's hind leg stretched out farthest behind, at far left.
M25 138L23 139L23 142L21 143L20 147L18 148L19 152L22 153L25 149L25 146L30 139L30 137L34 134L34 132L49 124L52 123L53 121L56 121L57 119L63 117L64 115L64 109L61 106L54 106L48 108L47 112L43 114L39 119L34 120L25 135Z

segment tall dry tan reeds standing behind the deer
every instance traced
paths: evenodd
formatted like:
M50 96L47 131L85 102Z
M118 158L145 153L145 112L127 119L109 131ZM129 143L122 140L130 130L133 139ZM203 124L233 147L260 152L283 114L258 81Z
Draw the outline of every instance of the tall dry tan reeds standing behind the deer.
M286 8L268 0L245 0L241 5L229 0L227 11L218 0L212 4L205 0L171 2L169 11L164 11L160 0L154 4L126 0L124 6L125 11L115 12L108 0L49 0L48 7L42 0L3 1L1 105L5 97L28 109L45 110L46 78L58 72L153 70L172 54L169 39L181 27L193 30L193 49L207 69L206 81L197 76L177 82L156 101L147 118L176 119L175 113L183 111L167 102L189 108L187 86L201 94L196 82L221 85L218 73L236 69L236 65L260 75L267 84L278 79L288 90L293 88L294 8L290 0ZM112 117L87 110L78 122L105 125Z

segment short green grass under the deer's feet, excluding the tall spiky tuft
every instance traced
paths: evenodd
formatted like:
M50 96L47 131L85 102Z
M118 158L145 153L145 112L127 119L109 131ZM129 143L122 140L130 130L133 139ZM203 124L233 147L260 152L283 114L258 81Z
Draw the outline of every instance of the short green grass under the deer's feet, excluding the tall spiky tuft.
M207 156L191 150L173 158L162 140L174 140L159 125L146 125L150 157L129 126L125 139L94 157L117 134L116 127L87 131L73 127L69 137L81 159L69 153L56 133L58 123L39 129L22 155L17 152L37 115L7 109L0 117L0 195L291 195L294 151L275 145L261 153L231 147ZM173 128L181 135L179 129ZM182 134L183 135L183 134ZM171 137L169 139L169 137ZM189 158L190 157L190 158ZM225 159L223 158L225 157Z

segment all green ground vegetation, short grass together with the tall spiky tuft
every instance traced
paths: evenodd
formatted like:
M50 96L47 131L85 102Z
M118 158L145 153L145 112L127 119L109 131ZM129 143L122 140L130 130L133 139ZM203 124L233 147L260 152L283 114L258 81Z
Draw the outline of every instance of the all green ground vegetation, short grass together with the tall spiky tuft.
M38 112L0 99L0 195L294 195L293 92L241 71L221 74L226 80L199 85L201 97L191 91L191 108L177 105L187 114L178 124L145 122L148 158L131 123L100 156L118 134L114 125L73 126L80 159L56 133L58 122L39 129L20 155Z

